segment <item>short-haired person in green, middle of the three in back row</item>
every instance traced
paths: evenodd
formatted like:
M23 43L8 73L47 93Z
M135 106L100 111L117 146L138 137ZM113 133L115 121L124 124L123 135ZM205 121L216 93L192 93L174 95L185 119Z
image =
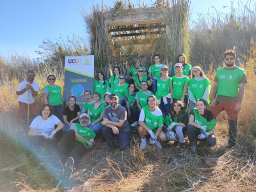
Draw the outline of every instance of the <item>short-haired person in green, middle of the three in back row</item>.
M159 54L155 54L154 57L153 57L153 60L154 60L155 64L148 68L148 76L150 77L151 81L153 81L152 86L151 86L151 90L154 94L156 94L157 77L160 76L159 73L160 73L160 70L161 70L161 66L163 64L160 63Z

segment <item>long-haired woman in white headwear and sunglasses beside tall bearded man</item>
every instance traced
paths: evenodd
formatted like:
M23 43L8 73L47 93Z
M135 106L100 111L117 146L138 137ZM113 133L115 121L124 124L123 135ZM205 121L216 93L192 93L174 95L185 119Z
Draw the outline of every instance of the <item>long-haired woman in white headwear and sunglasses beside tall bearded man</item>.
M209 95L211 92L211 81L205 76L201 67L192 68L192 79L188 84L188 96L190 100L190 111L195 108L196 100L207 100L210 103Z

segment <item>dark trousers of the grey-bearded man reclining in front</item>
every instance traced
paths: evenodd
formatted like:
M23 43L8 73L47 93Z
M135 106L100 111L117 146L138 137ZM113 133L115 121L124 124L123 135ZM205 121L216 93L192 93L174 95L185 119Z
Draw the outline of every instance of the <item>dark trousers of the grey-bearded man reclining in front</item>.
M81 156L86 152L84 144L80 141L76 141L76 132L74 130L68 130L63 136L63 140L59 150L59 159L64 166L68 157L74 159L74 168L77 168Z

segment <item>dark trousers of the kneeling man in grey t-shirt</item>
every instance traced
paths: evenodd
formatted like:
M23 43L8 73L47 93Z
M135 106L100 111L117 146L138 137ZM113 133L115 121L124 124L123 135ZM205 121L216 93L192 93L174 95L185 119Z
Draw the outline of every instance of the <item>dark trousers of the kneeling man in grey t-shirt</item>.
M115 148L115 136L118 138L120 150L125 150L130 145L129 131L119 130L118 134L114 134L111 128L104 126L102 127L102 135L107 140L109 147Z

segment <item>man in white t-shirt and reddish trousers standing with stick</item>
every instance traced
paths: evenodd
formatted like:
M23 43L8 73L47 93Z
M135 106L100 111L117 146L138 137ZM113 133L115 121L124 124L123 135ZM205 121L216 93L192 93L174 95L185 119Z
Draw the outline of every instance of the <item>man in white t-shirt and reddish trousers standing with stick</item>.
M28 119L28 93L29 93L29 111L33 118L38 116L36 110L36 104L34 98L38 95L39 85L34 81L35 72L33 70L28 70L27 79L22 81L18 88L16 94L19 95L19 113L23 120L27 122Z

